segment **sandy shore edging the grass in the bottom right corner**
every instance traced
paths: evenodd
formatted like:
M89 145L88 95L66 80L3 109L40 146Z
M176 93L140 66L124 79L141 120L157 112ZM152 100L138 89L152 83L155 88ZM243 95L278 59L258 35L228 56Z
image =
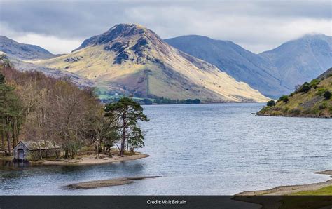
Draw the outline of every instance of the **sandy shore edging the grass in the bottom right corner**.
M332 177L332 170L325 170L321 172L316 172L317 174L325 174L330 175ZM282 196L282 195L290 195L292 193L298 191L312 191L321 189L323 187L332 186L332 180L328 180L326 182L314 183L314 184L303 184L303 185L292 185L292 186L281 186L275 187L272 189L258 190L258 191L244 191L239 194L235 194L235 196Z

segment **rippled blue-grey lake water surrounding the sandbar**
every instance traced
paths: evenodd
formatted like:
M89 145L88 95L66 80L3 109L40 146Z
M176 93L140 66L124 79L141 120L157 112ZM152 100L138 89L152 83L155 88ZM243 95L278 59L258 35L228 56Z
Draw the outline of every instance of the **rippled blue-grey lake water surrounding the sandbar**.
M146 159L96 166L8 166L0 162L0 194L236 194L328 180L332 119L255 116L263 104L145 106ZM76 182L161 175L98 189Z

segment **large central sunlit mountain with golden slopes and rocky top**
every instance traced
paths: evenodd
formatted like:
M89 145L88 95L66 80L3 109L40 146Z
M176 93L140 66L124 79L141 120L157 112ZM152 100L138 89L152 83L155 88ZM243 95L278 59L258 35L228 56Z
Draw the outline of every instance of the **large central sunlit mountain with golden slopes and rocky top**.
M268 99L214 65L173 48L141 25L115 25L86 39L72 53L32 63L84 76L110 94L203 102Z

